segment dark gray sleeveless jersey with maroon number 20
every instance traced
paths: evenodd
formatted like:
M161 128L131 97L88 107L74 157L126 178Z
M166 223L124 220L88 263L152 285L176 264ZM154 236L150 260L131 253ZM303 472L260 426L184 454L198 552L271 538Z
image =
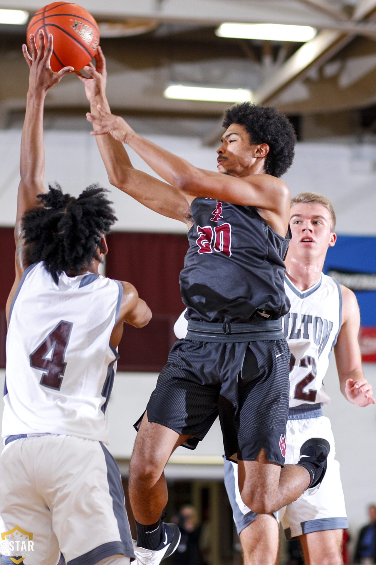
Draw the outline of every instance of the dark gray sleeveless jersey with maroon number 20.
M195 198L180 292L191 320L240 322L258 310L275 320L289 311L283 259L291 238L279 236L256 208Z

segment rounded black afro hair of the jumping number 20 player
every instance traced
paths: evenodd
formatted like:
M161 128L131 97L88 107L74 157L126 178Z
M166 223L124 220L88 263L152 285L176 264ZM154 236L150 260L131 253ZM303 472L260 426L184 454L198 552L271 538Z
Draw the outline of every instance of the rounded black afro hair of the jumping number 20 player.
M239 124L249 133L251 144L266 143L270 147L265 172L280 177L294 159L297 136L290 121L273 106L256 106L250 102L236 104L225 111L223 127Z

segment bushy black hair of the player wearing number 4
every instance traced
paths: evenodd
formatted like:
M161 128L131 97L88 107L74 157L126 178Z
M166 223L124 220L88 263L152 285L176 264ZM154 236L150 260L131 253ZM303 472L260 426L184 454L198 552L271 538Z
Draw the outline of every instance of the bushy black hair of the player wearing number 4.
M41 206L25 212L22 218L28 261L44 261L46 270L78 275L99 260L98 247L117 218L105 197L104 188L91 185L78 198L63 194L55 183L45 194L38 194Z

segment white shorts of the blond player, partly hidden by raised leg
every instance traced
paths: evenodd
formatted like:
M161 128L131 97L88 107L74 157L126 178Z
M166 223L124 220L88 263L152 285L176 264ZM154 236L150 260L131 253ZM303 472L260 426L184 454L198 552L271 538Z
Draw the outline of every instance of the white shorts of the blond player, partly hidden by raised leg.
M315 489L306 490L295 502L277 513L287 540L310 532L348 528L339 463L335 460L333 432L329 418L322 416L320 406L307 405L289 410L286 432L285 464L298 463L300 447L311 437L322 437L329 441L328 467L322 483ZM257 514L241 499L237 464L225 460L224 482L232 506L237 532L251 524Z

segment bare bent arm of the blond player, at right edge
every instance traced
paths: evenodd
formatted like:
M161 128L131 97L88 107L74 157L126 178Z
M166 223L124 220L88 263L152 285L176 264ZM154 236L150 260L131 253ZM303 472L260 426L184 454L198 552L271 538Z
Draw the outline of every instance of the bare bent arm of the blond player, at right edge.
M342 290L342 327L334 346L340 390L349 402L357 406L375 404L372 386L365 379L361 366L358 341L360 328L359 306L355 294L346 286Z

